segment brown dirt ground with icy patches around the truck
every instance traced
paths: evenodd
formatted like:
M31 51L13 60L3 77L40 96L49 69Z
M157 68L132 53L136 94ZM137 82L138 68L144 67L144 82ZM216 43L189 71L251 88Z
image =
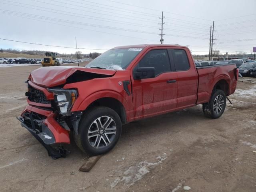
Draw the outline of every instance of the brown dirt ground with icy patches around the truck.
M73 140L71 153L53 160L16 120L24 81L38 67L0 68L1 192L256 191L256 78L238 82L219 119L200 105L126 124L116 147L85 173L78 169L87 154Z

